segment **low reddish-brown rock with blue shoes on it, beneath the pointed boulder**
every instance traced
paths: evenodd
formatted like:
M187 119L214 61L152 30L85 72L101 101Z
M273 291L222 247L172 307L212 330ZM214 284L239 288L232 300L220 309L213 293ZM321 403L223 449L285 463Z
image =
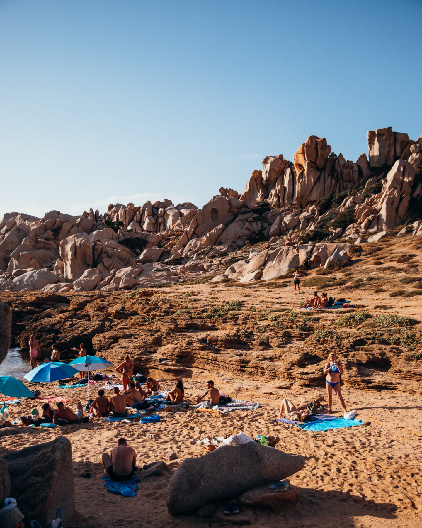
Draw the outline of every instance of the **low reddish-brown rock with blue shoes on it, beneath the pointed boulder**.
M289 484L285 492L279 493L273 493L271 489L268 489L267 485L264 485L243 493L238 498L238 502L241 506L280 512L282 510L288 510L298 504L299 499L300 493L298 489L291 484Z

